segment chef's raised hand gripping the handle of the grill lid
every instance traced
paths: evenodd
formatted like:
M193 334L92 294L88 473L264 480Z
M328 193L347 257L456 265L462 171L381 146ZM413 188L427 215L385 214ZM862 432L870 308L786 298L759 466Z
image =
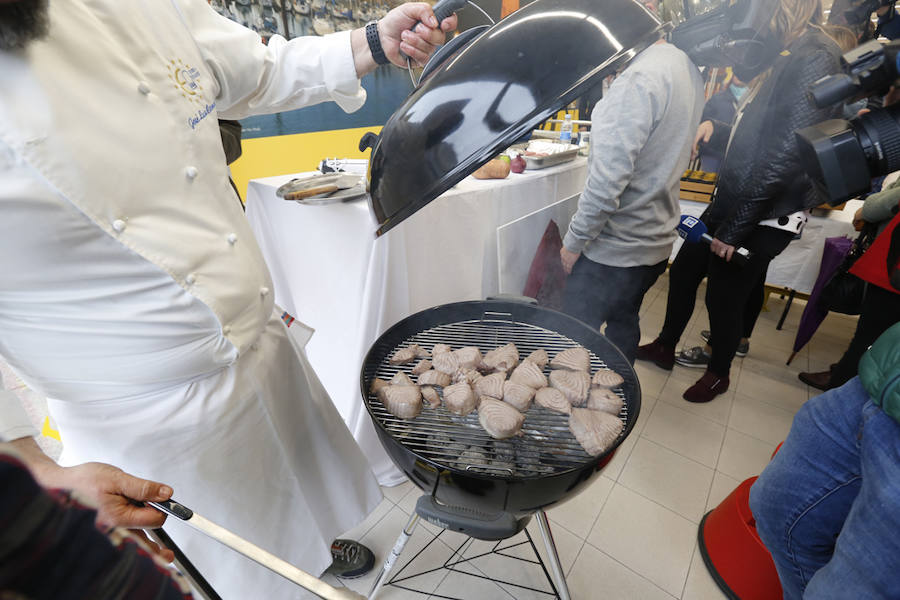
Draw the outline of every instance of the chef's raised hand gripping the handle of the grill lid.
M416 28L410 30L413 25ZM424 2L401 4L378 21L384 53L388 60L401 67L406 66L406 56L424 66L435 48L444 43L444 32L454 29L456 15L438 24L431 7ZM401 56L401 52L406 56Z

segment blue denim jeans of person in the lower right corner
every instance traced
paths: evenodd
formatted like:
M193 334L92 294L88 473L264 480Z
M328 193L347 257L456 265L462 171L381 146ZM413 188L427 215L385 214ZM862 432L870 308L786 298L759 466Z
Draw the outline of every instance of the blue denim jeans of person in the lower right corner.
M786 600L900 598L900 423L859 379L803 405L750 488Z

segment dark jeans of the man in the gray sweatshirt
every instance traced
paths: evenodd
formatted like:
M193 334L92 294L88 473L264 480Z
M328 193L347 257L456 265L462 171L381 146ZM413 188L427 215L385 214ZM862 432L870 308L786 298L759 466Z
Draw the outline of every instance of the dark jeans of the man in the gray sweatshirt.
M666 261L639 267L611 267L582 256L566 280L563 312L599 330L634 364L644 294L666 270Z

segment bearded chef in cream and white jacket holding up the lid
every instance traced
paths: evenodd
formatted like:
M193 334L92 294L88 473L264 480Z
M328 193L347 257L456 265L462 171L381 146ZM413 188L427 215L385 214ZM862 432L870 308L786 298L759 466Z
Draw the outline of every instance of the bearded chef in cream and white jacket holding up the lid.
M366 33L266 46L206 0L0 0L0 356L49 399L72 467L40 453L12 394L0 437L43 484L87 492L130 526L160 519L125 496L174 488L316 574L377 505L365 457L273 305L217 126L326 100L355 110L376 61L424 62L443 41L426 4ZM223 596L301 594L173 521Z

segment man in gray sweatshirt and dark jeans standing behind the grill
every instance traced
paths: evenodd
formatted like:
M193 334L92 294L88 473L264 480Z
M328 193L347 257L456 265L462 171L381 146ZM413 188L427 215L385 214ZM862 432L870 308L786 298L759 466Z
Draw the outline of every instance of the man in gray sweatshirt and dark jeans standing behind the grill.
M616 77L591 113L587 182L560 250L563 311L634 363L644 294L677 237L679 181L703 112L703 81L687 54L659 40Z

